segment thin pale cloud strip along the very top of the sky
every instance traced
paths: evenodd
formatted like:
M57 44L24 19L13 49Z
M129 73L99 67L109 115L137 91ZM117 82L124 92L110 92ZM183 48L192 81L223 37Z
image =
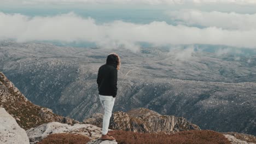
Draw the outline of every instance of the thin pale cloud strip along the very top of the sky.
M254 0L2 0L21 4L256 4Z

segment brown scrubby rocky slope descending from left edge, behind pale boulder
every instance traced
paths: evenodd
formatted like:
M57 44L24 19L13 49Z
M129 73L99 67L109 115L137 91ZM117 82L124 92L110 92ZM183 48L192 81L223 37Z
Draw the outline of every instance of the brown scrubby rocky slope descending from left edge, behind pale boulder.
M0 72L0 106L16 119L21 128L29 129L47 122L74 124L71 118L56 115L50 109L31 103L7 77Z

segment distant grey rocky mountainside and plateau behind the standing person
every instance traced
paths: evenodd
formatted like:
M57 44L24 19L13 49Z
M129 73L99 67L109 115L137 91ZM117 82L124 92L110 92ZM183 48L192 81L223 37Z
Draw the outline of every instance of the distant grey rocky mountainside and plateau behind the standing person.
M114 51L121 57L114 111L146 107L201 129L256 135L255 55ZM83 121L103 112L96 76L110 52L2 41L0 70L34 104Z

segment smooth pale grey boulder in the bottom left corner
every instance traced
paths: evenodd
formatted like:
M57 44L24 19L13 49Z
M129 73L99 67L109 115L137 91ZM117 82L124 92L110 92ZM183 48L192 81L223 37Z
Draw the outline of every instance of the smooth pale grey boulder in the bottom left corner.
M4 108L0 108L0 143L29 143L26 131Z

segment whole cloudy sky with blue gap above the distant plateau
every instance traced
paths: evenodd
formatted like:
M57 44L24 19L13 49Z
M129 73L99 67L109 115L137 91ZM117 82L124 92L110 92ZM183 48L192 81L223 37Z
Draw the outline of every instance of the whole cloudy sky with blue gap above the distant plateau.
M255 0L0 0L0 40L256 49Z

